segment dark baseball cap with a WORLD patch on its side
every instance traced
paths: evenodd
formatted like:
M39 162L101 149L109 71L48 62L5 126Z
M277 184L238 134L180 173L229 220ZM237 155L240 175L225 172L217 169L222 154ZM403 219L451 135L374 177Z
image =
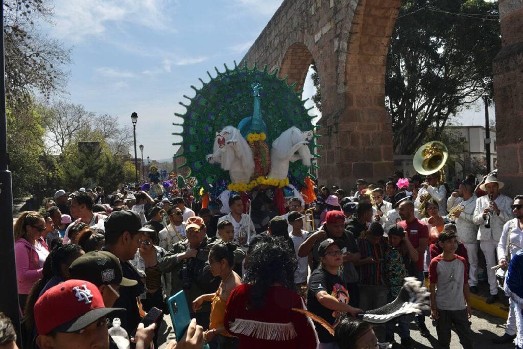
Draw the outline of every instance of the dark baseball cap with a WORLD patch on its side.
M93 251L76 258L69 267L72 279L86 280L96 286L120 285L134 286L137 280L123 277L118 257L108 251Z

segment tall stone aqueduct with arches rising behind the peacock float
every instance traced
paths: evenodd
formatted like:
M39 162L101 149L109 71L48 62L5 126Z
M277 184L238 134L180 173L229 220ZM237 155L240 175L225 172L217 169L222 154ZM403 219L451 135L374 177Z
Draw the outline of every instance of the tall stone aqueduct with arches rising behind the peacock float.
M301 90L311 61L322 86L320 178L349 187L393 171L384 106L386 54L401 0L285 0L249 49L249 66L279 69ZM500 178L523 193L523 2L499 0L503 48L494 62Z

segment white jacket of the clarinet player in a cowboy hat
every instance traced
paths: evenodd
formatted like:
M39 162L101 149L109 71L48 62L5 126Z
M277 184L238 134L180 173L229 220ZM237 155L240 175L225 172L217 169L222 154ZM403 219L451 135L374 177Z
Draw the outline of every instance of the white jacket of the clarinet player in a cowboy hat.
M480 229L477 230L477 240L487 241L494 240L496 244L501 239L501 233L503 232L503 225L514 218L512 214L512 205L513 200L508 196L499 194L499 196L494 200L496 202L497 208L499 209L499 216L495 212L491 215L491 227L489 229L485 228L485 220L483 219L483 210L488 207L490 200L488 200L488 195L483 195L482 197L477 198L476 208L474 209L474 223L479 224Z

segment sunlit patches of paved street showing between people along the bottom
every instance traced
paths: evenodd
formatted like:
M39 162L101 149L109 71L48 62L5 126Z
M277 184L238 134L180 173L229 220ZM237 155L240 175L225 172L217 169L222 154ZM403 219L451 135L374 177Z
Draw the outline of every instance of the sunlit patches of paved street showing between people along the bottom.
M505 344L505 345L496 345L492 344L491 340L496 335L502 335L505 333L505 321L492 317L484 312L472 311L472 331L474 339L474 348L475 349L514 349L514 344ZM170 317L164 316L164 323L162 324L161 333L163 334L160 343L165 342L166 337L174 338L172 331L172 324L170 322ZM413 347L415 349L425 349L425 348L438 348L438 340L436 336L436 328L431 324L430 319L426 319L427 327L430 331L430 336L428 338L422 337L417 331L417 327L414 324L414 321L411 322L411 336L413 339ZM396 341L400 341L399 336L396 334ZM458 335L452 332L452 339L450 347L461 348L459 344ZM165 345L160 346L160 349L165 348Z

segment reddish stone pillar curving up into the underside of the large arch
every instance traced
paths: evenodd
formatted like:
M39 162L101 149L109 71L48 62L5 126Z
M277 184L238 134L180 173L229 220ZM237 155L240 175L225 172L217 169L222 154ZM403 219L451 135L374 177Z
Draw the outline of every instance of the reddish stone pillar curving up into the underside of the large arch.
M353 185L355 178L375 181L392 173L392 120L385 110L384 85L386 53L399 6L400 1L361 0L346 55L338 57L345 58L343 76L338 76L344 106L339 116L321 120L325 158L320 159L320 177L333 176L332 182L344 187Z

